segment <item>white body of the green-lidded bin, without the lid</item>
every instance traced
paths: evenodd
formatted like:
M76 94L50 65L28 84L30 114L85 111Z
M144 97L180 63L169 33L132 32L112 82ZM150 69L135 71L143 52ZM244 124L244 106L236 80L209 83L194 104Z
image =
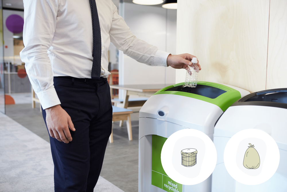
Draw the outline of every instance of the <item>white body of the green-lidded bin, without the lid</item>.
M158 111L165 115L159 116ZM168 138L189 128L213 139L214 124L222 113L217 105L190 97L171 94L150 97L139 111L139 192L164 192L151 185L152 135ZM197 185L183 185L182 191L210 192L211 176Z

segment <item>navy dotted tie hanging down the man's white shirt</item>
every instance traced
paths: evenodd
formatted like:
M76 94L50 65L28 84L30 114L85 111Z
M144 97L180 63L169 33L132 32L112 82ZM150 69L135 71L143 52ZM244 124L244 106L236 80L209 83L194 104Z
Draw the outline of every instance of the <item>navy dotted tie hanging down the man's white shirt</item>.
M93 66L92 79L100 79L101 75L101 57L102 57L102 39L101 28L98 16L98 10L95 0L90 0L93 26Z

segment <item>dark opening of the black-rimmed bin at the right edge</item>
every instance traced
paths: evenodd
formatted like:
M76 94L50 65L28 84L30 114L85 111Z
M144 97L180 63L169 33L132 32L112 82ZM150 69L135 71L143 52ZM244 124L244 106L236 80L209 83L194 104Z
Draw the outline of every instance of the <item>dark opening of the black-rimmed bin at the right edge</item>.
M273 92L266 94L259 94L248 98L244 102L250 101L263 101L263 102L276 102L287 104L287 92Z

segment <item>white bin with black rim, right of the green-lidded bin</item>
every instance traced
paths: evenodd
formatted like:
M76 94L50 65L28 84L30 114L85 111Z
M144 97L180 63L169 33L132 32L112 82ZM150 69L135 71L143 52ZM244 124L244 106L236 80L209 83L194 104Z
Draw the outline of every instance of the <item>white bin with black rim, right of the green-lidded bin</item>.
M212 192L287 191L286 117L287 88L264 90L249 94L236 101L222 114L214 128L217 163L212 173ZM233 139L244 131L247 131L247 134L241 135L240 138L237 138L238 140ZM272 139L269 141L268 137L263 139L260 138L261 136L251 134L251 132L260 133L259 131L264 133L262 133L262 136L271 136ZM253 141L251 143L254 138L258 142ZM271 142L271 140L277 146L268 149L270 145L267 142ZM243 147L245 149L239 153L237 150L242 141L244 141ZM234 149L228 151L231 143ZM256 150L255 152L253 149L256 156L253 159L255 166L250 166L251 163L244 162L246 156L249 155L248 152L254 155L252 151L248 151L249 148ZM276 150L280 153L277 157L274 156ZM232 160L233 153L234 169L228 169L229 164L232 164L229 159ZM235 157L235 153L238 156ZM266 163L267 158L271 158L271 163ZM239 163L236 164L235 161ZM274 166L276 162L278 168L275 166L272 172L269 170L271 169L270 166ZM268 174L270 175L268 176ZM235 176L236 179L234 179ZM262 179L260 177L263 176L268 177L260 182L260 179ZM255 181L258 184L252 183Z

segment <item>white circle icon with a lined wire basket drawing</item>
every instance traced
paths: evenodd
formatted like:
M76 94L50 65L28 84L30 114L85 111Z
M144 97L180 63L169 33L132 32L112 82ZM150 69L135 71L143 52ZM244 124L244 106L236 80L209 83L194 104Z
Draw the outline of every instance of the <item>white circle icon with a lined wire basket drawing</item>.
M216 160L212 140L195 129L173 133L161 151L164 171L172 180L183 185L195 185L206 180L212 174Z

